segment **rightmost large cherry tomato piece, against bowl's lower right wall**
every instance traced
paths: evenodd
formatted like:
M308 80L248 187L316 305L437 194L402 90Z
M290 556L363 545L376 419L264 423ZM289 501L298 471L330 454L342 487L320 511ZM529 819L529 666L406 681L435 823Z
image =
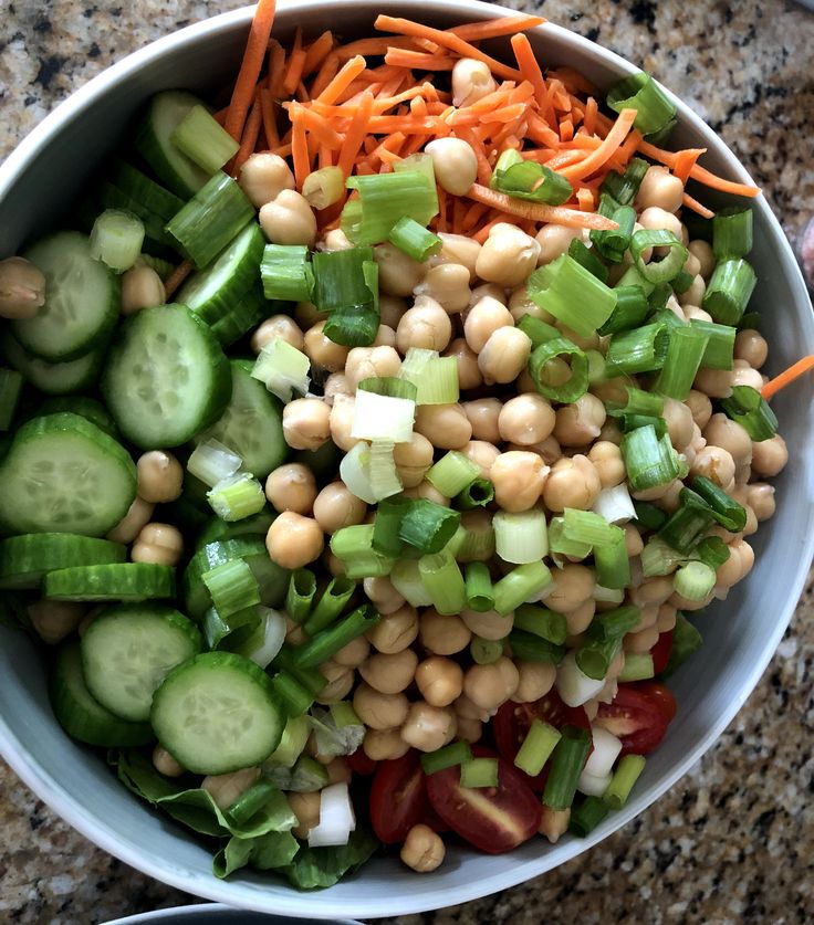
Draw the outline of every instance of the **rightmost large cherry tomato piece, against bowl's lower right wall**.
M619 684L609 704L599 704L595 723L622 740L622 755L647 755L665 737L676 698L655 681Z

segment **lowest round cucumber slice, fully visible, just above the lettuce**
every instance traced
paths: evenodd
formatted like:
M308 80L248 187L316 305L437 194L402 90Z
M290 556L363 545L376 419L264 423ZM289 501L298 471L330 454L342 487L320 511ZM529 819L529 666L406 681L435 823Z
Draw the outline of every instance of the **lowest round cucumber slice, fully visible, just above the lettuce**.
M231 652L206 652L174 669L153 697L150 719L182 767L207 775L264 761L285 726L269 676Z

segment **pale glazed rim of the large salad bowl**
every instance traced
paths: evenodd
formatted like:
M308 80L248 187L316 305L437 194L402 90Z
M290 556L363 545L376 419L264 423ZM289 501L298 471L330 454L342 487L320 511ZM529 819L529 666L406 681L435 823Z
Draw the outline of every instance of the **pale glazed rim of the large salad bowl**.
M413 0L413 2L414 6L419 6L418 0ZM324 6L324 3L325 0L291 0L291 2L285 2L282 9L296 7L305 10ZM369 8L374 11L378 11L380 9L379 0L355 0L355 3L364 8ZM462 22L476 19L497 19L516 14L515 10L504 7L495 7L487 2L481 2L481 0L443 0L442 9L445 13L455 13ZM148 45L128 54L121 61L112 64L102 73L90 80L85 85L76 90L73 94L71 94L71 96L55 107L53 112L46 115L43 120L35 126L9 155L6 161L0 165L0 201L2 201L20 172L23 171L27 166L40 155L42 149L46 146L53 130L64 127L65 124L69 124L73 119L77 118L86 109L91 108L97 99L103 97L111 87L121 82L127 81L132 74L137 73L150 62L173 52L178 46L187 43L194 43L199 39L217 33L223 29L244 27L248 30L253 10L254 7L241 7L237 10L231 10L200 22L192 23L191 25L187 25L184 29L159 38ZM540 30L544 30L545 33L552 35L560 43L571 45L571 48L576 50L580 55L593 59L596 63L609 66L617 70L619 73L633 74L639 71L638 67L615 52L605 49L602 45L597 45L588 39L585 39L564 27L546 21L542 27L536 27L534 32L539 34ZM693 113L686 103L676 96L676 94L667 87L662 87L662 90L676 105L678 109L679 123L688 125L705 138L711 149L714 149L716 156L723 165L721 172L739 182L752 183L753 181L749 172L737 159L726 143L719 138L718 135L716 135L716 133L700 118L700 116ZM776 217L770 209L769 203L762 193L756 197L753 202L755 209L760 210L763 218L766 220L771 235L774 238L774 243L783 256L784 267L791 267L791 273L794 278L790 280L790 284L795 292L801 295L801 301L805 304L807 301L806 287L794 259L791 245L783 233ZM812 336L812 344L814 345L814 322L808 320L807 324L808 333ZM482 877L476 883L468 883L442 890L425 891L424 897L421 897L421 891L416 891L416 894L411 894L408 891L401 897L401 904L397 910L383 908L382 901L376 897L363 896L355 901L344 897L335 897L331 895L331 890L322 891L321 893L321 895L328 897L328 902L323 902L322 908L319 907L319 903L314 903L315 896L320 894L301 894L293 890L290 893L286 892L284 894L270 894L273 903L273 910L270 908L268 904L263 904L257 900L259 894L254 892L246 892L240 896L241 907L267 913L273 912L281 915L290 915L292 917L310 916L312 918L332 918L336 915L380 917L394 914L406 915L420 913L428 910L469 902L471 900L480 898L482 896L498 893L501 890L515 886L533 876L538 876L554 869L555 866L559 866L561 863L573 860L577 855L593 848L612 832L615 832L626 826L630 820L651 806L670 787L672 787L676 781L683 777L692 765L709 750L712 744L731 723L764 673L769 661L771 660L786 627L791 621L813 556L814 530L805 538L805 544L801 549L801 556L797 561L796 571L793 572L793 580L787 585L790 591L793 591L793 593L789 595L782 611L775 614L779 619L776 619L774 624L769 644L761 656L749 666L747 677L740 685L738 696L733 697L728 703L727 707L720 712L717 721L706 730L696 746L686 753L657 785L653 786L646 793L641 793L638 798L629 801L622 811L614 813L612 828L602 826L587 838L580 841L575 840L573 843L573 850L571 850L566 856L559 858L556 861L549 861L546 856L543 855L538 859L519 862L507 872ZM104 851L118 858L136 870L156 879L157 881L175 886L179 890L189 891L192 889L197 895L204 898L227 904L238 901L237 894L240 892L240 886L236 886L233 881L230 883L229 881L221 881L216 877L201 880L200 877L195 876L194 872L189 870L184 873L175 866L173 869L165 869L158 860L154 860L153 855L145 852L143 849L139 850L137 845L131 845L121 841L119 838L113 834L103 823L100 823L94 818L90 818L87 816L86 808L80 805L56 778L48 774L43 767L32 759L32 757L21 746L20 742L14 737L2 716L0 716L0 753L19 777L40 798L53 808L54 811L58 812L59 816L69 822L74 829ZM440 903L438 900L440 900ZM314 905L317 907L313 907Z

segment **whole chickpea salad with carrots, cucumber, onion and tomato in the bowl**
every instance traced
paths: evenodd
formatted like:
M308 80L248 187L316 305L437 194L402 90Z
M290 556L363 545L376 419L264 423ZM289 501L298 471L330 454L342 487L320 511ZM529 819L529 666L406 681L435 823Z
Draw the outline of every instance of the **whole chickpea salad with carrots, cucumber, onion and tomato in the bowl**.
M273 12L0 263L3 614L218 876L584 837L774 513L759 191L646 74L543 70L538 17Z

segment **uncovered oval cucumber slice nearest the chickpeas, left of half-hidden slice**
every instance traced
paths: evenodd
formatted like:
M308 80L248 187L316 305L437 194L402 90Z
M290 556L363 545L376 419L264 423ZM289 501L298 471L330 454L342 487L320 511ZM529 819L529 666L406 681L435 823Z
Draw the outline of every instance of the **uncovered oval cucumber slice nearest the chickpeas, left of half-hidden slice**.
M132 315L109 351L102 393L122 433L143 450L178 446L220 418L231 396L223 350L184 305Z

